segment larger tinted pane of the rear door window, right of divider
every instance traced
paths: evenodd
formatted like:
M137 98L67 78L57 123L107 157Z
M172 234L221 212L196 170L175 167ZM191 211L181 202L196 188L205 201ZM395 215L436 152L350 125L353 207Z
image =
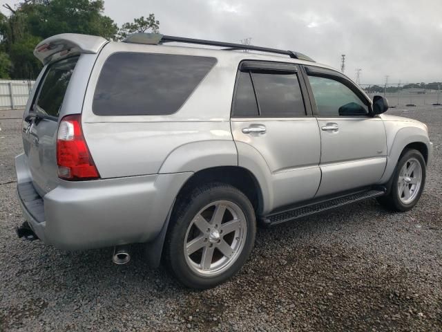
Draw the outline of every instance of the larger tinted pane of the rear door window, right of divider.
M305 116L304 101L294 73L251 73L261 116Z

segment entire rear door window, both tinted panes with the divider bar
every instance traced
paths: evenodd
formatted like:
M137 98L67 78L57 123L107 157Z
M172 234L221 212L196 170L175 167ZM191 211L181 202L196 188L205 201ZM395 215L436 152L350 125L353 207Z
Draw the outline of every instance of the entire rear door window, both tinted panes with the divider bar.
M240 71L232 116L305 116L298 75L273 70Z

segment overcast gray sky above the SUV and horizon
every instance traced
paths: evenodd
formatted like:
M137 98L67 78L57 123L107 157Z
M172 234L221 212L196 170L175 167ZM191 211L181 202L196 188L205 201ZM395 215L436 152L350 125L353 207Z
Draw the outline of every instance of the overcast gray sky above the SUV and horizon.
M15 3L17 1L3 1ZM105 0L119 26L155 13L165 35L297 50L362 84L442 81L442 0Z

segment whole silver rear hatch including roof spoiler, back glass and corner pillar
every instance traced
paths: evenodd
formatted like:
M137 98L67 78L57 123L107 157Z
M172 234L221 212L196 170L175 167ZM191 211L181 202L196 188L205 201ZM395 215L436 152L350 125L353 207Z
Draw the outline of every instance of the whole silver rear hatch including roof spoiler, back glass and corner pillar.
M23 147L35 190L44 196L58 176L57 132L65 116L79 114L103 37L64 33L44 39L34 55L45 66L23 114Z

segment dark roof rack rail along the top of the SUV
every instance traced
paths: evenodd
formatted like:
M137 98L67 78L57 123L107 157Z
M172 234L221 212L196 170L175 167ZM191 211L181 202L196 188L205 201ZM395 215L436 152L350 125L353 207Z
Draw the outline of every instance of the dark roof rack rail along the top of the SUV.
M128 35L128 37L126 37L123 40L123 42L131 44L149 44L149 45L178 42L185 44L198 44L198 45L225 47L224 50L258 50L260 52L266 52L266 53L289 55L289 57L293 59L300 59L300 60L314 62L314 59L311 59L311 57L308 57L307 55L304 55L302 53L294 52L293 50L278 50L276 48L260 47L253 45L215 42L212 40L205 40L205 39L166 36L166 35L161 35L160 33L134 33L133 35Z

